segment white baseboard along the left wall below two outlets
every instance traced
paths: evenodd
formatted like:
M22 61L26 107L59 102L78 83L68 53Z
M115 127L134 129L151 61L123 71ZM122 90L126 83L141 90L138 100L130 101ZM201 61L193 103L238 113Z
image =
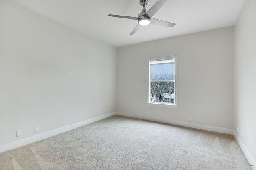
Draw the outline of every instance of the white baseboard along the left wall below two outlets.
M93 123L93 122L96 122L96 121L99 121L99 120L102 120L102 119L106 119L106 118L114 116L114 115L116 115L116 112L112 112L112 113L108 113L106 115L101 115L101 116L98 116L98 117L94 117L92 119L88 119L88 120L85 120L85 121L74 123L72 125L68 125L68 126L65 126L65 127L60 127L58 129L54 129L52 131L40 133L38 135L34 135L34 136L31 136L31 137L20 139L18 141L14 141L14 142L11 142L11 143L6 143L4 145L0 145L0 153L5 152L7 150L11 150L11 149L14 149L14 148L21 147L23 145L27 145L29 143L40 141L42 139L46 139L48 137L52 137L54 135L58 135L60 133L66 132L66 131L70 131L72 129L76 129L78 127L88 125L90 123Z

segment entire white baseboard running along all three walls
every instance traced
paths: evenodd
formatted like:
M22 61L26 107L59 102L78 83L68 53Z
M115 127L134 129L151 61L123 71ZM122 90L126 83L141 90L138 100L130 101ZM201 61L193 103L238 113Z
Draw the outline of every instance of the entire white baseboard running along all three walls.
M196 123L188 123L188 122L174 121L174 120L168 120L168 119L160 119L160 118L156 118L156 117L149 117L149 116L144 116L144 115L135 115L135 114L123 113L123 112L108 113L106 115L101 115L101 116L98 116L98 117L94 117L92 119L88 119L88 120L85 120L85 121L74 123L72 125L68 125L68 126L65 126L65 127L54 129L52 131L44 132L44 133L41 133L41 134L38 134L38 135L27 137L25 139L21 139L21 140L18 140L18 141L14 141L14 142L11 142L11 143L0 145L0 153L5 152L7 150L15 149L17 147L21 147L23 145L27 145L27 144L30 144L30 143L33 143L33 142L36 142L36 141L40 141L42 139L46 139L48 137L52 137L54 135L58 135L60 133L66 132L66 131L70 131L72 129L76 129L78 127L88 125L90 123L93 123L93 122L96 122L96 121L99 121L99 120L102 120L102 119L106 119L106 118L114 116L114 115L122 115L122 116L126 116L126 117L137 118L137 119L157 121L157 122L168 123L168 124L172 124L172 125L192 127L192 128L196 128L196 129L202 129L202 130L207 130L207 131L214 131L214 132L218 132L218 133L226 133L226 134L234 135L236 141L238 142L238 145L240 146L240 148L244 152L244 155L246 156L246 158L248 159L250 164L256 166L255 160L252 158L250 152L246 149L245 145L242 143L241 139L238 137L238 135L236 134L236 132L233 129L226 129L226 128L222 128L222 127L200 125L200 124L196 124Z

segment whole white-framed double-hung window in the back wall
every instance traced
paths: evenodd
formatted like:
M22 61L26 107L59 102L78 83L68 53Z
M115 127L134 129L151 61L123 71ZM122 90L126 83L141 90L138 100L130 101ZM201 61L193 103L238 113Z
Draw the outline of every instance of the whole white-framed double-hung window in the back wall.
M148 106L177 108L177 56L148 59Z

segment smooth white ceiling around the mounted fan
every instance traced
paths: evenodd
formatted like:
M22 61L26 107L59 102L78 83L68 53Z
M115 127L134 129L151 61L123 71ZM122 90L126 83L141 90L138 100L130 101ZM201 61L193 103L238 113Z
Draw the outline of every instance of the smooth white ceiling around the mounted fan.
M122 47L232 26L244 0L168 0L153 18L176 23L173 28L148 25L130 35L138 21L109 17L135 16L142 10L139 0L13 0L89 37ZM149 0L148 10L157 0Z

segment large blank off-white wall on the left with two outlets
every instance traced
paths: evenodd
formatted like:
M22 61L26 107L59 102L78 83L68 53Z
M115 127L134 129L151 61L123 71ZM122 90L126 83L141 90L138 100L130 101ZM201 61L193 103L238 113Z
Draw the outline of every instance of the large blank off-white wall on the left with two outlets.
M0 145L116 111L116 57L114 47L1 0Z

